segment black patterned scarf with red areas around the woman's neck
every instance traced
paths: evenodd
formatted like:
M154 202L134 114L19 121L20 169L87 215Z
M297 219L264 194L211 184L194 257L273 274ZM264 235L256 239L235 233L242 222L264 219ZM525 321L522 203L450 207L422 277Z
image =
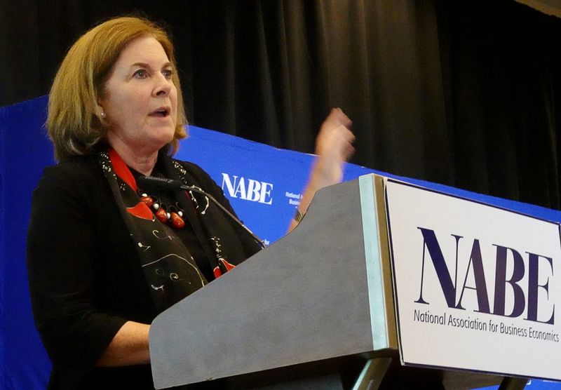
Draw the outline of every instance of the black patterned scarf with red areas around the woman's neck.
M173 229L160 222L147 204L141 201L135 177L121 156L110 149L100 152L98 159L137 249L156 309L163 311L207 284L188 248ZM198 187L196 178L180 161L161 153L158 163L163 166L166 177ZM215 277L234 268L252 254L245 253L247 250L241 247L239 232L225 219L224 213L210 203L208 197L187 191L177 191L174 195L208 255ZM223 245L223 237L229 243L228 249ZM255 245L253 252L259 249Z

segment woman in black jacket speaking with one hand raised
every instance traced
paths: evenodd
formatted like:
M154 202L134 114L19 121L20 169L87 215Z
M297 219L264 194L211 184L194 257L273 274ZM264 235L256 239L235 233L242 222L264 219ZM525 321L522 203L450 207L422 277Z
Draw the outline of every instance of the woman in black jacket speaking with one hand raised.
M34 191L27 244L50 388L151 388L154 317L259 250L205 196L138 186L142 175L182 180L231 210L201 168L170 157L185 123L172 43L147 20L104 22L62 62L47 121L60 163ZM339 109L323 123L299 214L341 180L349 126Z

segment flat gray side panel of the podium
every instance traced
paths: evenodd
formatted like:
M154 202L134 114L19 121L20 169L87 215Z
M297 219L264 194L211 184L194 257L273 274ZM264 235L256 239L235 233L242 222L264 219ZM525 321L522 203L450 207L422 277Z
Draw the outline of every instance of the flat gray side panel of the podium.
M156 388L372 351L359 194L318 191L290 234L158 316Z

